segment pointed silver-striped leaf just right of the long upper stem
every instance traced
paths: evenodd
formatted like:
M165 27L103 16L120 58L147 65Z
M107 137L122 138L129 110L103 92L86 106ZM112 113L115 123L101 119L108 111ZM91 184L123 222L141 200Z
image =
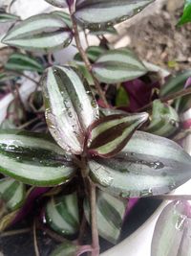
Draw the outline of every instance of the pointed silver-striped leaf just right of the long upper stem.
M147 69L134 52L120 48L96 59L93 72L98 81L115 83L137 79L146 74Z

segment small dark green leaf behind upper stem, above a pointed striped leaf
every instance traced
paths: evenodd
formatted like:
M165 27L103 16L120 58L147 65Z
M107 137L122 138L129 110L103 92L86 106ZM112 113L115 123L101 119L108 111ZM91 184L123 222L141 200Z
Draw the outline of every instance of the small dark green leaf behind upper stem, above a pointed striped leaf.
M87 57L95 62L97 58L99 58L102 54L104 54L106 50L101 46L89 46L86 50ZM82 58L79 53L74 56L74 60L82 61Z

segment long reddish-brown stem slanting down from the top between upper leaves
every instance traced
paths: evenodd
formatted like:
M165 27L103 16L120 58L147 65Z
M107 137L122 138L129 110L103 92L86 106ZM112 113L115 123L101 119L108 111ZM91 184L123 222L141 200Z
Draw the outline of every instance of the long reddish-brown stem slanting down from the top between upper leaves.
M99 84L99 82L96 80L96 77L94 76L93 74L93 67L92 67L92 64L89 60L89 58L87 57L86 55L86 52L84 51L82 45L81 45L81 41L80 41L80 37L79 37L79 33L78 33L78 29L77 29L77 23L74 19L74 6L70 7L70 13L71 13L71 20L73 22L73 29L74 29L74 39L75 39L75 44L76 44L76 47L77 47L77 50L79 51L79 54L81 55L81 58L83 59L88 71L90 72L90 74L92 75L93 77L93 80L95 82L95 86L96 86L96 90L101 98L101 100L103 101L103 103L109 107L108 103L107 103L107 100L105 98L105 94L104 92L102 91L102 88Z

